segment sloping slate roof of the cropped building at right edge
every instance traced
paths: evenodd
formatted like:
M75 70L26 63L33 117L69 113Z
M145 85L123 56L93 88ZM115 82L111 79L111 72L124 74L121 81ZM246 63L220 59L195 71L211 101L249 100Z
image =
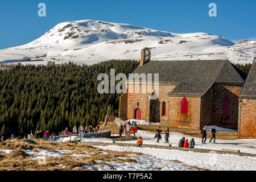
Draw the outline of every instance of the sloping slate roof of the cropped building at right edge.
M245 85L243 85L240 98L256 99L256 64L255 61L251 66L250 72L246 78Z

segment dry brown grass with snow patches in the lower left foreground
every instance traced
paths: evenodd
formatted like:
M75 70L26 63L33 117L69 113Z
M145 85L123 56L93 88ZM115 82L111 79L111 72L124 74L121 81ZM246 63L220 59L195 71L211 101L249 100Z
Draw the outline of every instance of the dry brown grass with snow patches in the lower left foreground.
M76 143L56 143L47 142L44 140L36 140L36 144L31 144L24 142L24 140L6 140L5 142L0 142L0 149L3 150L13 150L9 154L0 154L0 170L16 171L16 170L26 170L26 171L46 171L46 170L82 170L84 165L95 166L96 160L102 160L100 164L108 165L106 162L136 162L135 159L131 158L128 154L134 154L133 152L118 152L101 150L96 147L76 144ZM39 164L38 158L32 158L24 150L36 151L36 150L47 150L52 152L57 152L56 150L71 150L72 153L66 152L58 158L53 158L52 156L46 157L46 164ZM102 152L107 152L104 154ZM77 154L88 154L90 156L73 156ZM102 155L103 154L103 155ZM117 157L125 157L126 159L117 159ZM62 166L60 166L60 164ZM65 168L62 168L65 166Z

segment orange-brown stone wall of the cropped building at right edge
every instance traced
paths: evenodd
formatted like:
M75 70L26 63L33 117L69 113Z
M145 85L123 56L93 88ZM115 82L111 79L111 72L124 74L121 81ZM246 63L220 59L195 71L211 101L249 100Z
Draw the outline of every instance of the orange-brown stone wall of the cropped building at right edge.
M238 138L256 138L256 100L241 99Z

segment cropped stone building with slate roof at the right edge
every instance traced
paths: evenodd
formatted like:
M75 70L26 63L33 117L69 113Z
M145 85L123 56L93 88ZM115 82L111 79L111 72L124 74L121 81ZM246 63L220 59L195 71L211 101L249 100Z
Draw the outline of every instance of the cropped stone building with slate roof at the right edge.
M256 57L240 94L238 138L256 138Z

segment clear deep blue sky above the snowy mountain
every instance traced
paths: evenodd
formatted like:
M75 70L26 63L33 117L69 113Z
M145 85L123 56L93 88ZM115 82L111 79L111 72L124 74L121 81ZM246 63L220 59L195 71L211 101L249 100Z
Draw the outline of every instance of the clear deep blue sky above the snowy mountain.
M41 2L46 4L46 17L38 16ZM217 17L208 15L212 2ZM31 42L57 23L82 19L176 33L207 32L232 41L256 40L255 7L255 0L0 0L0 49Z

